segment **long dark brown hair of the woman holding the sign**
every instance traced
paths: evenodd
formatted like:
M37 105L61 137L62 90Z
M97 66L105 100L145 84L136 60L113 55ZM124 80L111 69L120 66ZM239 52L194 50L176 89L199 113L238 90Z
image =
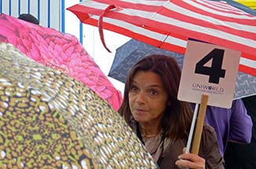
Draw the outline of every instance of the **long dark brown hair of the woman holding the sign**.
M128 73L124 86L124 100L118 112L128 124L131 123L133 117L129 108L128 92L131 90L135 74L139 71L157 73L161 77L165 91L168 94L168 100L171 104L167 106L161 119L161 129L165 138L171 138L174 141L179 138L187 138L193 112L189 103L177 99L181 72L173 57L150 55L135 64Z

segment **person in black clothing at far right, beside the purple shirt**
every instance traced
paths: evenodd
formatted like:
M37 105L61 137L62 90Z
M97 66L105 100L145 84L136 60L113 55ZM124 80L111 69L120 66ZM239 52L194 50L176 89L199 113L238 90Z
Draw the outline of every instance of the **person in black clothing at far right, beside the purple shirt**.
M256 168L256 95L243 97L242 100L253 121L252 138L250 144L247 145L228 141L227 149L224 152L225 166L227 169Z

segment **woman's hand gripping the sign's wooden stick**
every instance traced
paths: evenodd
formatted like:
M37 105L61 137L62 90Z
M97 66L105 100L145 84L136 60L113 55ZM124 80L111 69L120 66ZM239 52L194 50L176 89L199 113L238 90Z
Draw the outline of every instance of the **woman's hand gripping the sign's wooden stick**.
M202 157L192 154L192 153L183 153L178 156L179 160L176 160L176 165L178 167L187 167L193 169L205 169L206 160Z

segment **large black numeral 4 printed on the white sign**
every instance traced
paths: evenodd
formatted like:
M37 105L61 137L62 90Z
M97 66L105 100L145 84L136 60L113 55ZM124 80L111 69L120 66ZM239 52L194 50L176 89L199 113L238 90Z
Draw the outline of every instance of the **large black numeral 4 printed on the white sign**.
M224 78L226 72L225 69L222 69L223 56L224 50L214 49L210 51L206 57L202 57L202 59L195 64L195 73L209 75L209 83L218 84L220 78ZM211 67L205 66L210 60L212 60Z

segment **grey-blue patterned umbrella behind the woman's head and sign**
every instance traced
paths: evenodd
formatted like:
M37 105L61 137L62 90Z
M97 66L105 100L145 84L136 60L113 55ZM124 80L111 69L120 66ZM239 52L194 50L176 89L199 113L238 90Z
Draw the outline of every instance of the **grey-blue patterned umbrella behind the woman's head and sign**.
M113 59L113 64L109 71L109 76L125 83L129 69L143 57L150 54L173 56L178 62L180 68L183 66L183 54L171 52L169 50L161 50L154 46L132 39L117 49L116 55ZM239 72L237 75L234 99L254 94L256 94L256 77L254 75Z

